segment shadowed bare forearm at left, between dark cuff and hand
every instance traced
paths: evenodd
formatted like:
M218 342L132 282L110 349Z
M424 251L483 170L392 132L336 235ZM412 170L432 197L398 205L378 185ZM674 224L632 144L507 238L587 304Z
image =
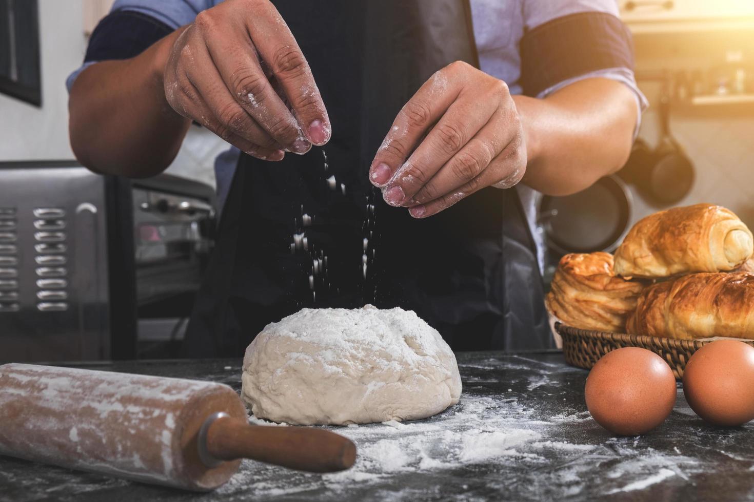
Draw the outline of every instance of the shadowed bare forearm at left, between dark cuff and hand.
M132 59L98 62L78 75L69 98L69 133L84 166L142 178L173 161L190 121L170 108L162 75L180 32Z

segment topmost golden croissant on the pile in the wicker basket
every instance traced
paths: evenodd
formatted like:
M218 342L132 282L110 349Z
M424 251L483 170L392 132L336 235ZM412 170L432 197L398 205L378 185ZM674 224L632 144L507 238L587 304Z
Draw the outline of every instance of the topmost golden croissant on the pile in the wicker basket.
M643 218L615 251L615 272L661 278L733 270L754 253L746 225L726 208L689 205Z

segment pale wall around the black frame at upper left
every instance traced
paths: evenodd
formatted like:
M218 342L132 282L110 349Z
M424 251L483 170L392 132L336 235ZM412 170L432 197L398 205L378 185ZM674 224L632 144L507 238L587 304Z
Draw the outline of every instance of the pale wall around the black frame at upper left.
M0 161L72 159L66 77L86 47L81 0L39 0L42 106L0 94Z

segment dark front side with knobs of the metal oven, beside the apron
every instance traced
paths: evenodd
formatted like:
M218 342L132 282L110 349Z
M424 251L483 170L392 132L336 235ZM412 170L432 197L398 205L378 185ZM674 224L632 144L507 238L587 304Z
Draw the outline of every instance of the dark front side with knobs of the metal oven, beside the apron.
M214 190L162 175L131 193L139 357L175 356L213 243Z

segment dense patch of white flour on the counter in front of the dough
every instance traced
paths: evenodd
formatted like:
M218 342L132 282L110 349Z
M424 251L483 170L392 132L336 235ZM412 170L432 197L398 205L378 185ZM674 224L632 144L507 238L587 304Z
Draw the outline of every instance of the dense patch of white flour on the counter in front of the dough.
M528 462L541 468L547 465L545 449L578 458L597 448L548 439L548 429L568 421L581 421L581 415L559 415L554 422L544 421L516 399L461 395L457 405L425 421L326 427L356 443L357 462L350 470L323 475L284 471L287 474L281 476L277 467L243 461L231 482L216 493L234 494L245 488L247 493L267 497L311 491L314 499L322 489L332 495L333 490L389 482L394 476L443 476L449 470L489 463ZM250 422L271 424L253 416Z

